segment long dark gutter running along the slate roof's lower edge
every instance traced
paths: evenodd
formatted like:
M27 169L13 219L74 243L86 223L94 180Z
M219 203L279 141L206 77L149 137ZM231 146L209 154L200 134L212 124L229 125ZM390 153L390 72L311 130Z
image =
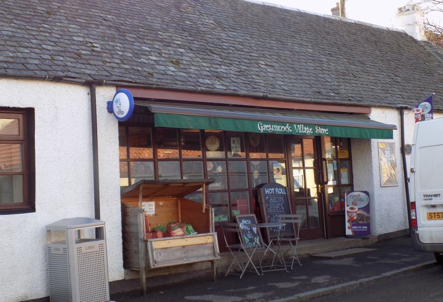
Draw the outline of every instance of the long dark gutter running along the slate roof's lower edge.
M331 101L324 99L288 97L288 96L273 95L267 93L244 93L239 91L226 91L226 90L207 89L207 88L182 88L182 87L173 87L167 85L136 84L136 83L127 83L119 81L105 81L105 80L80 80L80 79L71 79L64 77L54 77L50 75L23 75L23 74L14 74L14 73L0 73L0 78L51 81L51 82L69 83L77 85L88 85L88 83L95 82L95 83L103 83L101 85L124 87L124 88L159 89L159 90L168 90L176 92L203 93L203 94L220 95L220 96L233 96L233 97L244 97L252 99L299 102L299 103L308 103L308 104L325 104L325 105L342 105L342 106L353 105L353 106L362 106L362 107L391 108L391 109L399 108L398 105L380 104L378 102L374 104L371 102L364 102L364 101L363 102Z

